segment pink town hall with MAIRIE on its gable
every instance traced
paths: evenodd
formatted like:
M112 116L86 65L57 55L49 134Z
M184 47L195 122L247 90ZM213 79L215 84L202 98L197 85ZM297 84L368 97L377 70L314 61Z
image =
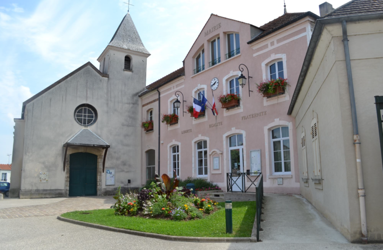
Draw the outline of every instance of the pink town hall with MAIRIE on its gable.
M256 27L211 14L184 67L140 93L142 118L154 121L154 129L142 134L142 184L155 172L172 175L176 170L181 179L205 178L223 190L235 181L232 191L242 191L262 172L265 192L299 194L298 142L287 110L317 18L312 12L285 13ZM241 66L247 78L243 88L240 64L249 71ZM288 79L283 94L267 98L257 93L256 83L278 77ZM198 118L183 113L192 97L201 98L199 93L210 104L214 95L217 116L210 109ZM218 97L228 93L241 100L222 108ZM179 115L178 123L159 121L172 113Z

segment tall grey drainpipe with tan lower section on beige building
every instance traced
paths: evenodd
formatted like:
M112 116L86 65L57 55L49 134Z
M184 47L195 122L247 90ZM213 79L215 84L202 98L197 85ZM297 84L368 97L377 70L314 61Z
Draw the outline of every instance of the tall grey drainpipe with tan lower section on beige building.
M350 61L350 51L349 51L349 40L347 39L347 26L346 21L342 21L342 31L343 31L343 45L345 48L345 59L346 59L346 70L347 70L347 79L349 82L349 93L350 93L350 103L351 103L351 116L353 119L353 129L354 129L354 146L355 146L355 156L357 160L357 175L358 175L358 196L359 196L359 206L361 210L361 227L362 227L362 243L367 244L367 220L366 220L366 201L365 201L365 185L363 183L363 171L362 171L362 161L361 161L361 142L359 140L359 131L358 131L358 118L357 118L357 107L355 105L355 96L354 96L354 84L353 84L353 74L351 71L351 61Z

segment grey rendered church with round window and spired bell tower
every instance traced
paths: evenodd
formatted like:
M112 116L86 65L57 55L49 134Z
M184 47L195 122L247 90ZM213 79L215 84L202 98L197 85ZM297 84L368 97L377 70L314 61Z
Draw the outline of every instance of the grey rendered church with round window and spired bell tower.
M141 186L138 93L149 56L128 13L98 58L100 69L88 62L23 103L11 197L106 195L119 185Z

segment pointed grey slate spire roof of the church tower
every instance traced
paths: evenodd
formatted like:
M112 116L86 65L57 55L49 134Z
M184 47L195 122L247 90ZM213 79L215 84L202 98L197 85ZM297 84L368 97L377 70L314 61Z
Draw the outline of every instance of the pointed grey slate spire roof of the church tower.
M150 55L141 41L129 12L122 19L109 45Z

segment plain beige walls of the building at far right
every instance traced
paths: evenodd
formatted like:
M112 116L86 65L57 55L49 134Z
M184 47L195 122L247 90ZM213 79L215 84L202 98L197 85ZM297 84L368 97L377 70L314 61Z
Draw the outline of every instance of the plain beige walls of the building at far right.
M366 190L367 229L370 242L383 239L383 169L374 96L383 95L381 77L383 40L379 21L348 23L351 66L363 178ZM322 189L311 181L313 173L310 125L318 114ZM317 45L298 101L294 107L297 140L306 129L308 185L301 193L351 242L361 241L358 180L353 125L341 24L327 25ZM302 151L298 150L300 177ZM317 186L317 187L316 187Z

